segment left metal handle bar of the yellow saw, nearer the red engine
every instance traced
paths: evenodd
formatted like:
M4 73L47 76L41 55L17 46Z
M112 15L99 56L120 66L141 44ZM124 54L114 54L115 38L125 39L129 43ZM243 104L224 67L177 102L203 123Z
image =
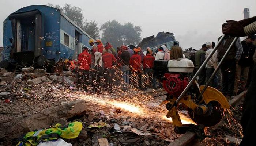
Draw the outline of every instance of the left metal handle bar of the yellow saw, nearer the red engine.
M212 55L214 54L214 52L217 50L217 48L219 47L219 45L221 44L222 40L224 39L225 34L222 35L221 39L219 39L219 42L216 44L216 46L214 47L214 49L211 51L211 53L209 54L209 56L205 59L205 61L203 62L203 64L200 66L200 68L197 70L195 76L193 76L193 78L191 79L191 81L188 83L187 87L184 89L184 91L182 91L181 95L178 97L178 99L175 101L175 103L168 109L172 109L172 107L176 106L177 103L181 100L181 98L184 96L184 94L188 91L188 89L191 87L191 85L193 84L193 82L196 80L196 77L199 75L199 73L203 70L203 68L205 68L206 63L210 60L210 58L212 57Z

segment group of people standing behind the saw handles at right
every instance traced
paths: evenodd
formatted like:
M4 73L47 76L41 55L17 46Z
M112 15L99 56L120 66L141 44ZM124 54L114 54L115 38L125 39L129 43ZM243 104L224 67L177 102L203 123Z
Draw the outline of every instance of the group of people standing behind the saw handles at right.
M218 41L220 38L218 38ZM252 70L254 64L253 54L255 54L255 45L253 45L253 41L255 38L255 35L250 35L242 42L238 38L223 60L221 69L218 70L210 81L209 85L222 91L228 100L232 98L237 88L244 89L249 86L251 80L248 80L248 77L251 77L252 74L252 71L249 70ZM205 85L209 80L233 39L234 37L226 35L223 41L220 42L217 51L199 73L197 80L199 85ZM200 68L214 47L215 43L209 41L203 44L200 50L196 51L194 57L195 72Z

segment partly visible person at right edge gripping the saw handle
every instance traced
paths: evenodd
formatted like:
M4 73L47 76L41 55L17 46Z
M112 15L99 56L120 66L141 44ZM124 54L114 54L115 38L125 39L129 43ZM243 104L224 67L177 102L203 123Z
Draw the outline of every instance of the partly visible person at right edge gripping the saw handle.
M227 21L222 25L223 34L233 37L244 37L246 35L254 35L256 33L256 16L240 21ZM241 118L241 126L244 137L239 146L251 146L255 143L256 131L256 68L254 65L252 82L246 93L243 112Z

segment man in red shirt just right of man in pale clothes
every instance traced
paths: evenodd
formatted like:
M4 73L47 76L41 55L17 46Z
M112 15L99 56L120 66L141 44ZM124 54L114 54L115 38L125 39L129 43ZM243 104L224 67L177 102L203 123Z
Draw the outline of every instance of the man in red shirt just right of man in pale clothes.
M109 46L105 46L105 49L109 49ZM112 92L112 87L110 87L109 84L112 84L113 81L113 76L114 76L114 72L115 70L113 69L113 62L116 62L117 59L114 57L114 55L112 53L109 52L105 52L102 55L102 61L104 63L104 70L103 70L103 79L104 79L104 87L105 90Z

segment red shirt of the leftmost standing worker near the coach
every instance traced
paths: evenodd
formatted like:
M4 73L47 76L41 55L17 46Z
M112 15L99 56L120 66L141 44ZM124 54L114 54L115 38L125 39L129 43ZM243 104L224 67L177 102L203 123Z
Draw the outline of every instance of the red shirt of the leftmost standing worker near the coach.
M90 70L91 55L87 51L83 51L78 55L79 69Z

